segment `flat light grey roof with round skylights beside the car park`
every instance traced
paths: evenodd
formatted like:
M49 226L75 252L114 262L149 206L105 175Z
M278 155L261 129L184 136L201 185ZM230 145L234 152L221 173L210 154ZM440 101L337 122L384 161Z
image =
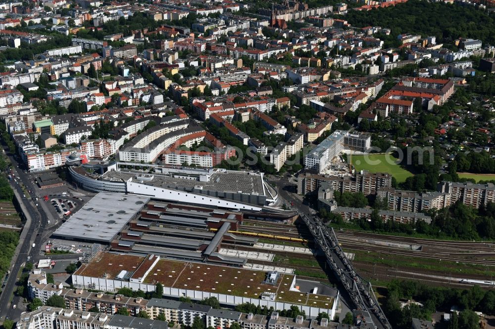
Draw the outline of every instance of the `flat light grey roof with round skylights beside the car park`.
M110 244L148 201L149 198L144 196L98 193L53 235L68 240Z

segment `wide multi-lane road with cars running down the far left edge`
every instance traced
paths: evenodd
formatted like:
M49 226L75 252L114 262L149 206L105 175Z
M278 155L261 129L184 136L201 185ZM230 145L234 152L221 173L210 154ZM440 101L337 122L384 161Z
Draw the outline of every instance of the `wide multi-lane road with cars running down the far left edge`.
M16 289L17 275L22 270L28 256L31 261L38 258L37 256L41 249L41 243L43 242L43 234L41 233L43 233L48 222L48 216L43 208L41 206L36 206L36 203L32 200L33 195L29 195L22 190L21 183L25 186L26 190L34 191L35 187L33 182L17 167L17 162L12 156L9 156L9 159L13 164L13 176L19 177L16 178L17 182L14 182L14 179L12 179L10 180L10 183L24 217L26 217L26 224L19 240L20 246L18 246L18 249L16 250L18 253L14 255L13 265L10 267L10 275L0 295L0 321L5 320L6 318L15 321L23 311L20 308L13 308L13 305L17 305L22 298L19 296L12 296ZM34 248L32 247L33 243L35 244Z

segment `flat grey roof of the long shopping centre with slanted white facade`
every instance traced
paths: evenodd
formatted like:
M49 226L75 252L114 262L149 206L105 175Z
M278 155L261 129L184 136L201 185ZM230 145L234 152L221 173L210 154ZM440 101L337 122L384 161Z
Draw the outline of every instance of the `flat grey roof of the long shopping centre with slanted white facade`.
M133 180L138 181L136 176L142 174L143 172L139 171L120 170L107 171L103 174L103 176L108 178L120 178L124 181L133 178ZM194 179L194 175L189 175L189 177L193 179L173 177L171 175L160 174L157 172L153 172L149 175L152 175L153 179L150 181L144 180L142 184L183 191L192 191L195 187L198 187L208 191L230 193L241 192L245 194L258 194L261 196L266 195L263 188L263 179L259 173L249 173L244 171L215 171L211 174L208 181L199 181L198 179Z

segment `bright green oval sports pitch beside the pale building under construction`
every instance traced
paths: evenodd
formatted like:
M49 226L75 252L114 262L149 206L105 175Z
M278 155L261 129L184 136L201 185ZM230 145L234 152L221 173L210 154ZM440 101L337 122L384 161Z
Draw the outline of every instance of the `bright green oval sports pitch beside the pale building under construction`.
M349 156L347 156L347 161ZM356 171L368 170L369 172L387 172L396 177L398 183L412 176L412 173L402 168L394 162L397 158L389 154L368 154L368 155L353 155L352 165Z

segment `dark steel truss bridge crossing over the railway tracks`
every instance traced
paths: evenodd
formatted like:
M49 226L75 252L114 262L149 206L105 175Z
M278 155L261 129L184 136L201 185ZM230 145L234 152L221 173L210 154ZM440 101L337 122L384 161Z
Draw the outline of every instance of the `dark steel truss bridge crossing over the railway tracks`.
M377 329L392 329L373 292L371 283L356 273L339 245L333 228L327 227L316 216L300 214L314 237L315 243L325 253L327 263L347 290L356 309L369 313L373 326Z

